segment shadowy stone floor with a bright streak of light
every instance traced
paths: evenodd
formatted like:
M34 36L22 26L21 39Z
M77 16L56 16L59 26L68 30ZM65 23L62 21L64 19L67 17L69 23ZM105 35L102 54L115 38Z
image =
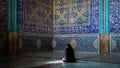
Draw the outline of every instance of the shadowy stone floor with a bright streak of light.
M120 54L100 56L96 53L75 53L77 62L64 63L64 52L22 53L0 56L0 68L120 68Z

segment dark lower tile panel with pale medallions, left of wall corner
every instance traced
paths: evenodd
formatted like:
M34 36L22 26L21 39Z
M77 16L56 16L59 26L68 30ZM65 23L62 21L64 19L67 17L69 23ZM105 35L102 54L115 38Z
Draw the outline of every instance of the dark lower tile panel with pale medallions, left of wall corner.
M17 46L17 52L39 52L41 50L52 50L52 37L19 36L18 40L19 45Z

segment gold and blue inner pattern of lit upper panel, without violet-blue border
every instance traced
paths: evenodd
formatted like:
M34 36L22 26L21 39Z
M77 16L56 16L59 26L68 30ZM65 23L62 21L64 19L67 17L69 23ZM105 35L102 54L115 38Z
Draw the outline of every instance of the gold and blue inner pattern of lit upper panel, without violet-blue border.
M89 24L90 1L88 0L55 0L54 25L68 26Z

